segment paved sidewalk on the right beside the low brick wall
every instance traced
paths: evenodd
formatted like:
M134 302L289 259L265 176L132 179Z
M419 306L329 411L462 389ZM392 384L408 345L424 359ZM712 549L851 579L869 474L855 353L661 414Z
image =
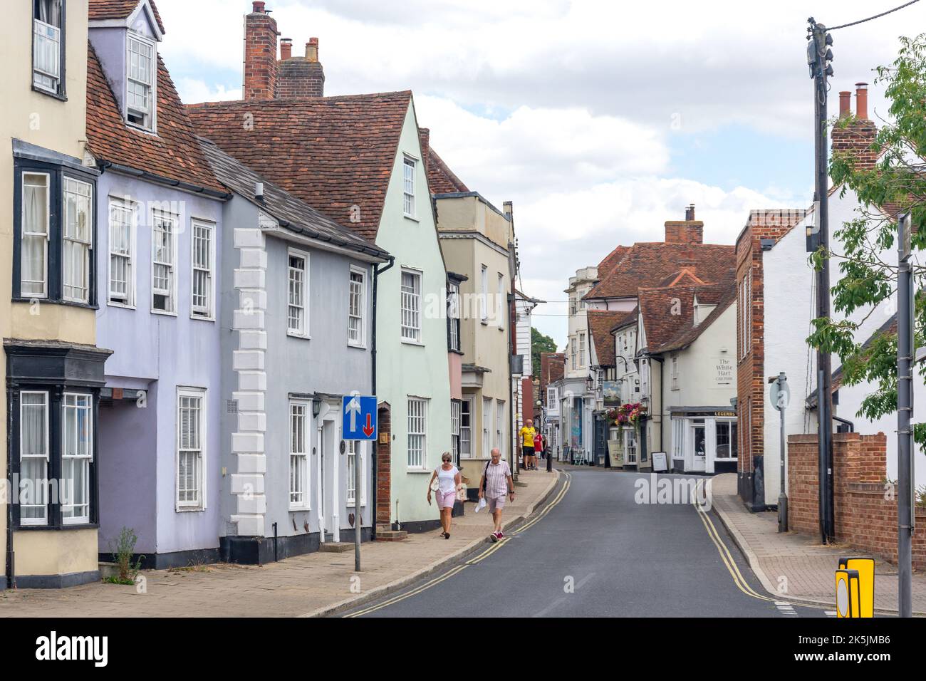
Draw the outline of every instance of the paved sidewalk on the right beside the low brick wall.
M817 537L796 532L780 534L778 513L746 510L736 494L736 473L717 475L711 489L714 511L767 591L777 598L821 603L835 609L834 571L840 557L859 555L857 549L823 546ZM875 558L874 584L875 609L897 612L896 565ZM913 611L926 613L924 574L913 575Z

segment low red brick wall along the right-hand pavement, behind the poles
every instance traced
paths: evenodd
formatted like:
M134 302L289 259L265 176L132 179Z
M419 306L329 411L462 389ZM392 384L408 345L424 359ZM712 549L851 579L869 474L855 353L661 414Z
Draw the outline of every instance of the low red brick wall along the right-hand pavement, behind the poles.
M896 562L897 499L896 486L885 481L887 436L836 433L832 439L836 540ZM788 526L819 536L817 435L788 437L788 487ZM917 523L926 523L926 509L917 510ZM913 536L913 566L926 568L922 532Z

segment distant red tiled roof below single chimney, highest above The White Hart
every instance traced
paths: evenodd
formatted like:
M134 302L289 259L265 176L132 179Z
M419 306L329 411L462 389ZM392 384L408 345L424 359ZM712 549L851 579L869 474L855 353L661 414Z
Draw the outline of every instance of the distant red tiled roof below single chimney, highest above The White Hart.
M716 284L730 275L734 262L735 246L634 244L618 266L584 297L586 300L633 297L637 289L657 287L682 268L705 284Z

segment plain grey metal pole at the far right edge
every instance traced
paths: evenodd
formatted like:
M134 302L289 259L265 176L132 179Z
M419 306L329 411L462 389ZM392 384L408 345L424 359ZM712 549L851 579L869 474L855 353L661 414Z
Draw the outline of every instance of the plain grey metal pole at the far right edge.
M897 225L897 611L913 616L912 544L916 513L913 486L913 272L910 214Z

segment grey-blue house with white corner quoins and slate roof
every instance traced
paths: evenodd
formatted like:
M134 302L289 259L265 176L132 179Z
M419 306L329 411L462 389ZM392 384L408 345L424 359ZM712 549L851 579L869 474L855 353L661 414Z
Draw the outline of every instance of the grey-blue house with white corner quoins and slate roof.
M222 560L279 560L357 528L369 539L372 456L342 440L341 398L371 390L373 283L389 254L202 148L233 192L219 255Z

